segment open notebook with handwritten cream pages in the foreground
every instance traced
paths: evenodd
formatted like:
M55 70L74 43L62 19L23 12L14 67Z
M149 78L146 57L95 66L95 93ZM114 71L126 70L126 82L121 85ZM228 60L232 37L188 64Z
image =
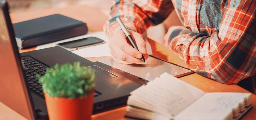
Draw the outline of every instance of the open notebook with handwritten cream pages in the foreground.
M149 120L236 120L252 108L250 93L205 93L163 73L131 92L127 117Z

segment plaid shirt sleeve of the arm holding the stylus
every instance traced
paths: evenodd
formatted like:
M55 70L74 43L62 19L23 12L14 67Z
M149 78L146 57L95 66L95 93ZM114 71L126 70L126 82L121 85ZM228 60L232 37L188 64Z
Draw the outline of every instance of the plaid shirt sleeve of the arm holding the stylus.
M103 29L110 38L121 29L115 21L120 17L127 28L142 34L149 26L163 22L173 9L170 0L115 0Z

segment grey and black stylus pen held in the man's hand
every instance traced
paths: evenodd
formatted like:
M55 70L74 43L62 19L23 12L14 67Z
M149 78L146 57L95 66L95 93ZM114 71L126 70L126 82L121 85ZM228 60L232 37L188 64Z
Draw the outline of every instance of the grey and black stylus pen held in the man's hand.
M138 46L136 45L135 41L133 40L131 34L127 31L127 28L124 26L124 23L120 19L120 17L116 18L116 21L118 22L119 26L121 27L122 31L124 32L126 38L130 41L132 44L132 47L139 51ZM141 61L145 63L145 58L142 55Z

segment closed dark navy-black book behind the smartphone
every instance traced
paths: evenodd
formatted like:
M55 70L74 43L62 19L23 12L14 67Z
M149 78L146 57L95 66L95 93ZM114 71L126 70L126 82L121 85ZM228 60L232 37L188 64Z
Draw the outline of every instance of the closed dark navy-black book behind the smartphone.
M88 33L86 23L60 14L15 23L13 27L20 49Z

